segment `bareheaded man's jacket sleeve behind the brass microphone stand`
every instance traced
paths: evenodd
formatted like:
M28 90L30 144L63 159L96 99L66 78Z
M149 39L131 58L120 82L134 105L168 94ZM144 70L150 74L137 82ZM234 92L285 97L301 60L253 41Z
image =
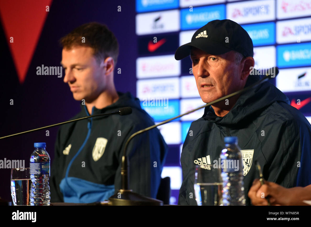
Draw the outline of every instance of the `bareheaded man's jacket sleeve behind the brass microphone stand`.
M141 130L134 127L129 131L126 140L133 133ZM126 142L124 140L124 144ZM115 193L121 188L121 165L124 144L119 152L119 166L114 179ZM133 192L156 198L160 186L161 172L167 154L167 145L156 129L136 135L128 144L129 189Z

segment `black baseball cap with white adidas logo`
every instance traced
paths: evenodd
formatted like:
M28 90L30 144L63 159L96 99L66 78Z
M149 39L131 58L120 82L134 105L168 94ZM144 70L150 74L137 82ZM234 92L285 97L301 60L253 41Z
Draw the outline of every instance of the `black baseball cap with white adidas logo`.
M231 50L253 57L253 41L238 23L225 19L208 22L192 36L191 42L180 46L175 52L175 59L181 60L196 47L208 54L224 54Z

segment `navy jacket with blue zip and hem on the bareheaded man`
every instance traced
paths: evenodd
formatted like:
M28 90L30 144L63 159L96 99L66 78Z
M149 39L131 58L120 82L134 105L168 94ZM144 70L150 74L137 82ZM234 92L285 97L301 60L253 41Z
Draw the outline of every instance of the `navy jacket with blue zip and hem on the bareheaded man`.
M55 143L49 181L51 202L90 203L107 200L121 188L121 160L126 140L133 133L154 125L139 99L118 93L117 102L92 115L132 107L132 114L89 118L62 125ZM72 119L89 116L85 105ZM129 143L129 188L156 198L167 145L155 128ZM155 164L156 162L156 164Z

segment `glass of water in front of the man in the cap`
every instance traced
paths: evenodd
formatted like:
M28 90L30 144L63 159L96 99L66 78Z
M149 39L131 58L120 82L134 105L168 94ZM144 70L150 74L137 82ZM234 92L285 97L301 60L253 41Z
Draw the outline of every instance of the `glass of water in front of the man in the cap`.
M222 206L221 169L212 165L196 166L194 193L198 206Z

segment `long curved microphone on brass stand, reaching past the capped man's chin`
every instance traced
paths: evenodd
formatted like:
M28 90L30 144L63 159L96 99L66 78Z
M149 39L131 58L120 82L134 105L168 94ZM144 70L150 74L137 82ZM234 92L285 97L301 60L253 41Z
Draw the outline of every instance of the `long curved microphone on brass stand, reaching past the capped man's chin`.
M262 83L266 82L267 80L276 77L276 75L279 73L279 69L277 67L272 67L272 68L265 70L265 71L266 71L266 74L264 75L264 77L262 79L260 79L256 83L253 83L252 85L249 85L248 87L245 87L245 88L243 88L237 92L233 92L229 95L226 95L226 96L221 97L219 99L216 99L212 102L209 102L203 106L199 106L196 109L193 109L191 111L180 114L178 116L169 118L165 121L160 122L159 124L152 125L148 128L142 129L142 130L132 134L128 138L128 140L126 141L126 143L124 145L124 149L123 149L122 166L121 166L121 187L122 187L122 189L120 189L117 194L114 194L113 196L111 196L109 198L109 205L143 205L143 206L161 205L161 203L160 203L161 201L159 202L159 200L155 200L155 199L149 198L147 196L141 196L137 193L132 192L132 190L128 189L128 157L126 156L126 149L128 147L128 143L133 139L134 136L141 134L143 132L146 132L148 130L151 130L157 126L164 125L170 121L173 121L179 117L182 117L184 115L187 115L187 114L192 113L194 111L197 111L199 109L205 108L206 106L210 106L216 102L220 102L222 100L225 100L226 98L229 98L229 97L232 97L234 95L240 94L242 92L248 91L254 87L257 87L259 84L262 84ZM252 71L250 72L249 76L252 76L252 75L262 75L262 73L260 72L260 70L253 68ZM121 195L123 196L123 199L119 198L119 195L120 195L119 193L121 193Z

